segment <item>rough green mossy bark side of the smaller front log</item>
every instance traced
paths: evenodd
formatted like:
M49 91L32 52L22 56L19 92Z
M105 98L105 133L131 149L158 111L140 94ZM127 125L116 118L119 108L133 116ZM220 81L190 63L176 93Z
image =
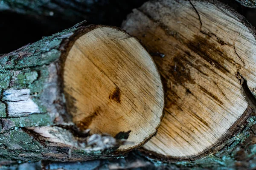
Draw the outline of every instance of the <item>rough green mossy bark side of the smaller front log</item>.
M0 56L1 165L13 161L78 161L125 154L114 151L125 143L129 132L120 132L115 138L90 134L90 130L77 127L66 111L62 74L65 57L81 35L100 27L82 22ZM140 144L143 143L136 145Z

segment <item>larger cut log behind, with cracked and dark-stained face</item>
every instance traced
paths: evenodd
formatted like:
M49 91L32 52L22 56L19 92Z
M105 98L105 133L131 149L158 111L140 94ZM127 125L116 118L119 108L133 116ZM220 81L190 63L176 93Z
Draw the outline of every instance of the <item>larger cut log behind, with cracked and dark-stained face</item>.
M122 28L153 55L165 91L165 116L145 155L198 159L249 134L240 132L253 125L256 40L244 17L215 1L159 0L134 9Z

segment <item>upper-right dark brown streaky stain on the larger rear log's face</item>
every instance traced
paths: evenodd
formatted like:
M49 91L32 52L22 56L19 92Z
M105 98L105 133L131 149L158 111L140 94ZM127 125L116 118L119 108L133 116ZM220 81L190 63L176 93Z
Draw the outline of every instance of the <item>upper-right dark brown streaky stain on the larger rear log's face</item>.
M214 42L210 42L209 36L202 37L195 35L194 40L187 42L186 45L189 49L205 59L224 74L230 73L230 71L224 66L224 60L235 63L232 58L227 56L224 50L218 47L218 45L216 45Z

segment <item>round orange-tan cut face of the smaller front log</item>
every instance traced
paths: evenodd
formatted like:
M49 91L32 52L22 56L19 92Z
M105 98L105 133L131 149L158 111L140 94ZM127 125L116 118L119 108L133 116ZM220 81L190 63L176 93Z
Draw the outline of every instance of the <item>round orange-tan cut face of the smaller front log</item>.
M81 130L112 136L131 130L119 150L143 144L160 125L163 87L153 59L115 28L96 28L76 40L64 66L64 91Z

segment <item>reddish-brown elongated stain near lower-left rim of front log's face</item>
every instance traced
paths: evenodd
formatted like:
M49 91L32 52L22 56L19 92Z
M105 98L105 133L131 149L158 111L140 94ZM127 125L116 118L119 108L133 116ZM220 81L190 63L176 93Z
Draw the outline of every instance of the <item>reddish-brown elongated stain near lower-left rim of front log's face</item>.
M99 116L99 112L101 111L101 108L97 108L93 113L91 113L89 116L86 116L81 121L77 122L76 125L79 127L79 130L86 130L88 127L92 124L93 119L95 119L97 116Z

